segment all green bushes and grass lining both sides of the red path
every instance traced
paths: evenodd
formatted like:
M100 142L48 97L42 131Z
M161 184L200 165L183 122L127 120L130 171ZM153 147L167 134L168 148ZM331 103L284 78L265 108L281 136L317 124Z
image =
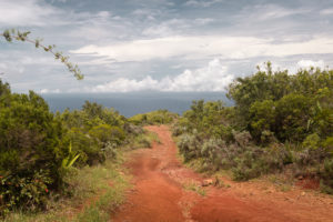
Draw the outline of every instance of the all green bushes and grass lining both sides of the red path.
M0 80L0 216L18 221L17 212L48 212L57 201L82 201L103 189L75 220L107 221L112 209L103 201L120 204L128 186L121 151L158 140L142 129L147 124L173 124L184 161L201 171L229 170L239 181L283 172L320 181L333 194L333 70L290 74L268 63L234 80L228 97L234 107L199 100L182 117L158 110L127 119L89 101L52 113L33 91L12 93ZM101 184L91 188L93 181Z

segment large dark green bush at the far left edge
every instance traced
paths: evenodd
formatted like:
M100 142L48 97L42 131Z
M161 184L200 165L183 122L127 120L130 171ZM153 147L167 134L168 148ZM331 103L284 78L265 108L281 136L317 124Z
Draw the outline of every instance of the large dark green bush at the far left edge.
M0 214L16 208L40 208L48 189L62 182L64 157L61 122L44 100L11 93L0 81Z

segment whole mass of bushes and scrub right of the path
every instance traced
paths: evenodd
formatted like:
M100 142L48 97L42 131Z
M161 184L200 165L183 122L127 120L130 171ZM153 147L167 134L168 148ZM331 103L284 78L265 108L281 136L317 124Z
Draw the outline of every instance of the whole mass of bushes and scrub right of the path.
M258 70L238 78L235 102L193 101L173 127L184 162L244 181L284 172L333 194L333 70Z

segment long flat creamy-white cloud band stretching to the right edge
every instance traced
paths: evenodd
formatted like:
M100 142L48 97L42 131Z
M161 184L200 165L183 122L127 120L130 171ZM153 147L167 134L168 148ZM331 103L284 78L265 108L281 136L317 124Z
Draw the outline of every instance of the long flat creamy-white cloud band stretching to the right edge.
M148 61L174 57L203 59L216 54L225 59L249 59L254 57L333 53L333 39L319 37L301 42L274 43L270 39L254 37L168 37L119 42L107 47L91 44L71 52L105 57L118 62Z

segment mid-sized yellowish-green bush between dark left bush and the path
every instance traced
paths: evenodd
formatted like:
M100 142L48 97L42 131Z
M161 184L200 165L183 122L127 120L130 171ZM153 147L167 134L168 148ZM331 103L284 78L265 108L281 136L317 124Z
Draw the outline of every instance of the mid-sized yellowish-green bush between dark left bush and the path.
M77 164L95 164L114 154L131 135L142 133L113 109L85 101L82 110L64 110L57 114L65 129L65 140L80 153ZM112 154L113 153L113 154Z

